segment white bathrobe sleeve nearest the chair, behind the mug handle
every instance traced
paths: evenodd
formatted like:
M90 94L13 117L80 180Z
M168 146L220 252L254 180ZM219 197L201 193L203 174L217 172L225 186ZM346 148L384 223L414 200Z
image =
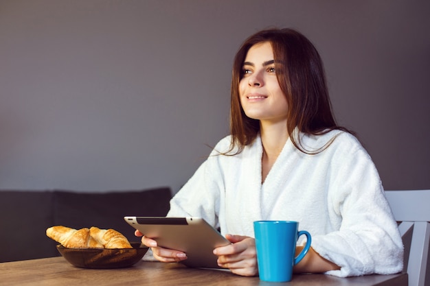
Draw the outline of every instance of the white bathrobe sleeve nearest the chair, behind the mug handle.
M333 160L328 219L340 216L341 225L335 232L313 237L313 249L341 267L327 274L400 272L403 243L374 163L359 143L339 148L336 156L341 160Z

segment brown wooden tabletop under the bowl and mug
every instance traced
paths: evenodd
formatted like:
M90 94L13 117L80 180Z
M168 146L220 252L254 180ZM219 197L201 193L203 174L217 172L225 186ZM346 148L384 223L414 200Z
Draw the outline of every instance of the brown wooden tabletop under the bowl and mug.
M179 263L139 261L133 267L91 270L74 267L63 257L0 263L0 285L291 285L405 286L407 274L337 278L324 274L294 275L288 283L267 283L225 270L203 270Z

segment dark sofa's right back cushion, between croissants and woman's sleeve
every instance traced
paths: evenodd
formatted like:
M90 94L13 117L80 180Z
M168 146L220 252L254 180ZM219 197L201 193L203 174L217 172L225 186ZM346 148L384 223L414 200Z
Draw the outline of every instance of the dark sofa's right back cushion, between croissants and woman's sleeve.
M71 228L113 228L129 241L139 241L124 216L165 216L169 210L170 188L109 193L54 192L54 225Z

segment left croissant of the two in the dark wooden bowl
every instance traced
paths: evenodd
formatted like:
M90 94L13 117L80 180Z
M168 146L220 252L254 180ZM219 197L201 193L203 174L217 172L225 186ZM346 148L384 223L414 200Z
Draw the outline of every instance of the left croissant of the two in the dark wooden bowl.
M102 243L91 237L88 228L76 230L66 226L52 226L47 228L46 235L65 248L103 248Z

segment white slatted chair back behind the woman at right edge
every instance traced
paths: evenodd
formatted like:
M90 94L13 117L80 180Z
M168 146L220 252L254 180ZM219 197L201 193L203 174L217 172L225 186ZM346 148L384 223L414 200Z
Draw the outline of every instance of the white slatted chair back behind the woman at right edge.
M409 286L425 286L430 240L430 190L385 191L405 243ZM411 233L412 232L412 233ZM429 277L430 279L430 277ZM430 281L426 283L430 285Z

